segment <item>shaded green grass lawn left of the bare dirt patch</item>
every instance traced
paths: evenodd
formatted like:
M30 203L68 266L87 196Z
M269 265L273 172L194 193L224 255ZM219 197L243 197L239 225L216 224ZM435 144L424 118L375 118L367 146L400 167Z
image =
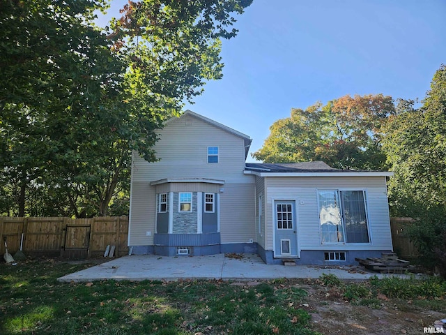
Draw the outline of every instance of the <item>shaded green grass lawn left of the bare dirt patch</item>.
M0 334L316 334L307 293L268 281L59 283L91 265L0 265Z

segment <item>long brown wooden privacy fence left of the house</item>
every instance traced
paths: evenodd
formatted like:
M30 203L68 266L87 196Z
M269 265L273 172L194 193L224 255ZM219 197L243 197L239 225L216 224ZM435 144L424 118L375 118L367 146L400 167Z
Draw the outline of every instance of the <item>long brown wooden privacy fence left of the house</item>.
M22 235L23 234L23 235ZM115 255L128 253L128 217L13 218L0 217L0 254L19 250L31 256L88 258L104 255L107 245Z

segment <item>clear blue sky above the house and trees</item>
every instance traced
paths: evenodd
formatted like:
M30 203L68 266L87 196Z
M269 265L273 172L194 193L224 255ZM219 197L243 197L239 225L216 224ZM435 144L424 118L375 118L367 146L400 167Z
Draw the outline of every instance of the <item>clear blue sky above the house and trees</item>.
M445 17L445 0L254 0L223 41L222 80L185 109L249 135L253 152L293 107L346 94L424 98L446 64Z

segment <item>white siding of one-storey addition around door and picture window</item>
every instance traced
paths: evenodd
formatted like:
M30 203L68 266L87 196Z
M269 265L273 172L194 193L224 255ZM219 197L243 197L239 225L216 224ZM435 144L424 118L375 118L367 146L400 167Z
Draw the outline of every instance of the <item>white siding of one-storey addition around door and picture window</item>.
M317 190L344 188L367 192L371 244L321 244ZM296 200L300 250L392 250L385 177L268 178L266 218L268 220L267 230L271 234L267 236L267 250L272 250L272 231L274 229L272 203L275 199Z

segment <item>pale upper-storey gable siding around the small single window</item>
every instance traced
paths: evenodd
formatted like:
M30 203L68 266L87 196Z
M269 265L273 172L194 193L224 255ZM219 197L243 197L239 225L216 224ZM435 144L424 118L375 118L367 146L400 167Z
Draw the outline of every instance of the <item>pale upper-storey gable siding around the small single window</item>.
M208 163L208 147L218 147L218 163ZM160 161L148 163L133 156L134 181L164 178L214 178L243 183L246 178L245 140L220 128L184 115L162 129L155 144Z

